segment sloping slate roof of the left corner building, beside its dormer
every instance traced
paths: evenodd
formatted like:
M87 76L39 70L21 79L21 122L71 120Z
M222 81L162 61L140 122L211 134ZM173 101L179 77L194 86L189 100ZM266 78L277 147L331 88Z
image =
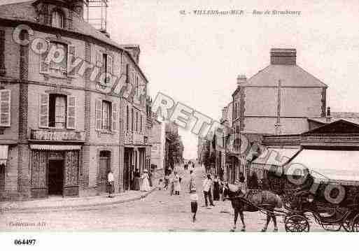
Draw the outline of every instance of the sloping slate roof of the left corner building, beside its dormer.
M34 0L31 1L24 1L19 0L18 3L9 3L5 5L0 5L0 19L7 19L7 20L20 20L20 21L27 21L27 22L33 22L36 24L39 24L37 22L37 13L35 11L34 6L31 4L34 3ZM45 24L41 24L45 25ZM53 28L53 29L59 29L59 28ZM65 29L69 30L69 29ZM88 24L85 22L82 17L77 15L77 13L73 13L73 29L69 31L74 31L78 34L83 34L85 36L91 36L92 38L95 38L99 41L102 41L104 43L107 43L109 45L113 45L114 47L124 50L127 52L127 55L132 59L132 62L136 64L134 59L132 58L131 54L125 50L125 48L122 47L119 43L116 43L115 41L108 38L105 34L101 33L94 27L92 27L91 24ZM145 74L141 71L140 67L138 66L139 71L141 72L143 78L147 80Z

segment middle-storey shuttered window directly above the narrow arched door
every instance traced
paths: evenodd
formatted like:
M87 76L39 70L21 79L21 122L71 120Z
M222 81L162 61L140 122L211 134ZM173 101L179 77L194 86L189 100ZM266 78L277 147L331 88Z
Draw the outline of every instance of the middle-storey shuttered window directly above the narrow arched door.
M117 131L117 104L111 101L96 100L96 130Z

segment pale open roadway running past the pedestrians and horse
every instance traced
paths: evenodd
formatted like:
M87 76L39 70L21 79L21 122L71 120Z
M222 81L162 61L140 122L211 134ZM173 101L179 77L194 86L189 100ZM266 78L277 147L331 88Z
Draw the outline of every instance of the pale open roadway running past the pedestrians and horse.
M202 195L203 168L195 169L199 211L197 222L192 223L188 194L188 171L183 171L182 192L170 196L166 190L156 190L145 199L109 206L94 206L85 209L59 210L38 213L3 213L0 229L5 231L42 230L115 230L115 231L230 231L233 210L230 201L214 201L211 208L204 207ZM245 213L247 231L260 231L265 224L262 213ZM283 229L283 219L279 217L279 231ZM16 226L17 222L27 227ZM238 220L237 229L241 229ZM311 224L311 231L318 229ZM269 224L268 231L273 230Z

